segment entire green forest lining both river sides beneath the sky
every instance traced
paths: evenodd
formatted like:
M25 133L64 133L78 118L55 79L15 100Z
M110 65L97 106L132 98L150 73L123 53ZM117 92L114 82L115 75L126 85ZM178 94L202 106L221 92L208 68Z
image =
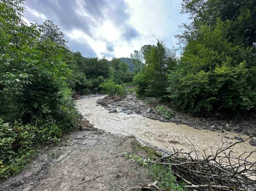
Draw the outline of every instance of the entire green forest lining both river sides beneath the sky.
M190 24L180 25L178 48L156 39L110 61L70 50L51 20L26 24L22 3L0 2L0 178L79 129L77 92L123 95L133 84L139 98L202 116L255 111L255 0L183 0Z

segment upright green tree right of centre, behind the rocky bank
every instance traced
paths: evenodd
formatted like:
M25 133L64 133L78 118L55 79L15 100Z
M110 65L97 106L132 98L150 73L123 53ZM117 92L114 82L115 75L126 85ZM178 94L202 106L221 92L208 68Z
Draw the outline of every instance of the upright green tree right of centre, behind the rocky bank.
M163 97L166 95L167 74L176 65L176 53L157 40L150 53L146 54L147 65L134 77L138 96Z

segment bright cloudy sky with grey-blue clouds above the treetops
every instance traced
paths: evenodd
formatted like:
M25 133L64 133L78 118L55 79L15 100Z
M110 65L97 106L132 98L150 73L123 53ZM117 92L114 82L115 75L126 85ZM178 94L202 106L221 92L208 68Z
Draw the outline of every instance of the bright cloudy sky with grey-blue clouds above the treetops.
M26 0L25 21L52 20L84 57L129 57L145 44L176 44L182 0ZM33 21L35 20L35 21Z

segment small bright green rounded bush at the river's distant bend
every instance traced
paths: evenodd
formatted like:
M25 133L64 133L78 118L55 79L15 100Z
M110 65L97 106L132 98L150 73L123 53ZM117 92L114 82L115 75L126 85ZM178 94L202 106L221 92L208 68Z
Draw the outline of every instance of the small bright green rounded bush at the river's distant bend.
M102 87L103 91L108 95L124 94L124 88L119 84L115 84L112 79L104 81L102 84L100 84L100 87Z

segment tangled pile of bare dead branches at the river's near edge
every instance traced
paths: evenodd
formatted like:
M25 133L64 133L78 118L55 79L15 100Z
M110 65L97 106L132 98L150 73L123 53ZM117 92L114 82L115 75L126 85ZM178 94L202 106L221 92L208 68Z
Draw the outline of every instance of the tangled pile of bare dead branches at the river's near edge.
M248 158L256 151L245 151L237 155L232 147L248 139L237 141L231 145L222 142L222 146L212 154L206 150L197 151L193 145L190 152L173 148L171 154L157 157L153 164L170 165L173 174L185 182L184 189L193 191L256 191L256 158ZM156 149L164 152L161 149ZM254 161L251 161L254 160ZM152 183L152 186L131 188L164 191ZM127 191L128 191L127 190ZM169 189L170 190L170 189ZM167 191L167 190L166 190Z

